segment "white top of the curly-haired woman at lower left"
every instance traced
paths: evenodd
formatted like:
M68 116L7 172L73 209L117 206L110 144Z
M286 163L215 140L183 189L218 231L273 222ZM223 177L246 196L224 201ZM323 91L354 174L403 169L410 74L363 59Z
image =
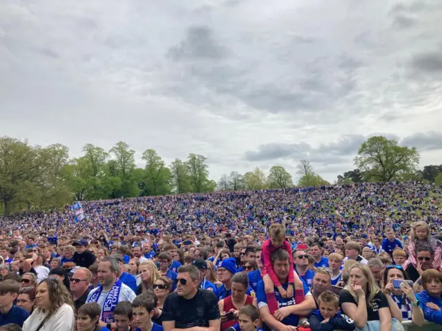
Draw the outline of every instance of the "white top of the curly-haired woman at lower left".
M46 317L41 309L36 309L23 323L23 331L35 331ZM75 326L74 310L70 305L62 305L40 328L40 331L73 331Z

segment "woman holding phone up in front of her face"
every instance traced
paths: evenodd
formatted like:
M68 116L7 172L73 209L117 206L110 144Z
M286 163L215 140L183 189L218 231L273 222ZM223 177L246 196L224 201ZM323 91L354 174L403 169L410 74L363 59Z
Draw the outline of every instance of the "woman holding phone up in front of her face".
M423 311L419 307L419 299L411 285L407 283L405 271L401 265L387 265L383 274L385 287L383 292L390 305L392 317L398 321L413 321L415 325L423 325ZM396 286L395 286L396 285Z

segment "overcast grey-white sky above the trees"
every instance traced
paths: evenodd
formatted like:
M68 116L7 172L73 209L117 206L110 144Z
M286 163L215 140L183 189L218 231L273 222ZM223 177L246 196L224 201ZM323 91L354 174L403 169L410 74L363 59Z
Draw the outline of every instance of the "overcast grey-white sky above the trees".
M325 179L374 134L442 163L442 1L0 0L0 136Z

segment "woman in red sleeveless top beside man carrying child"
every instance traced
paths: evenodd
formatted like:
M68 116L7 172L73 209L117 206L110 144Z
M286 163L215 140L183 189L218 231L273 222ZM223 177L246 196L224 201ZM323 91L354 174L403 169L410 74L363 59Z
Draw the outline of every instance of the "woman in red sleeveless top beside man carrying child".
M221 312L221 331L227 330L238 323L238 312L244 305L254 305L258 309L256 298L246 294L246 290L249 288L247 273L238 272L234 274L231 282L232 294L218 301ZM226 314L228 312L233 312L234 319L227 319Z

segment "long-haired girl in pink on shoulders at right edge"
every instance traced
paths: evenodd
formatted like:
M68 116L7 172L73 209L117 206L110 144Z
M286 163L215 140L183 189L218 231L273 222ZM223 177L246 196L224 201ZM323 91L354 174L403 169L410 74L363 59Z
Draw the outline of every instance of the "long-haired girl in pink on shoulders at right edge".
M442 272L442 242L431 237L430 227L423 221L412 224L410 243L407 247L410 257L408 257L403 265L404 270L406 270L410 264L414 265L414 268L417 268L416 247L429 248L431 252L434 252L433 268Z

